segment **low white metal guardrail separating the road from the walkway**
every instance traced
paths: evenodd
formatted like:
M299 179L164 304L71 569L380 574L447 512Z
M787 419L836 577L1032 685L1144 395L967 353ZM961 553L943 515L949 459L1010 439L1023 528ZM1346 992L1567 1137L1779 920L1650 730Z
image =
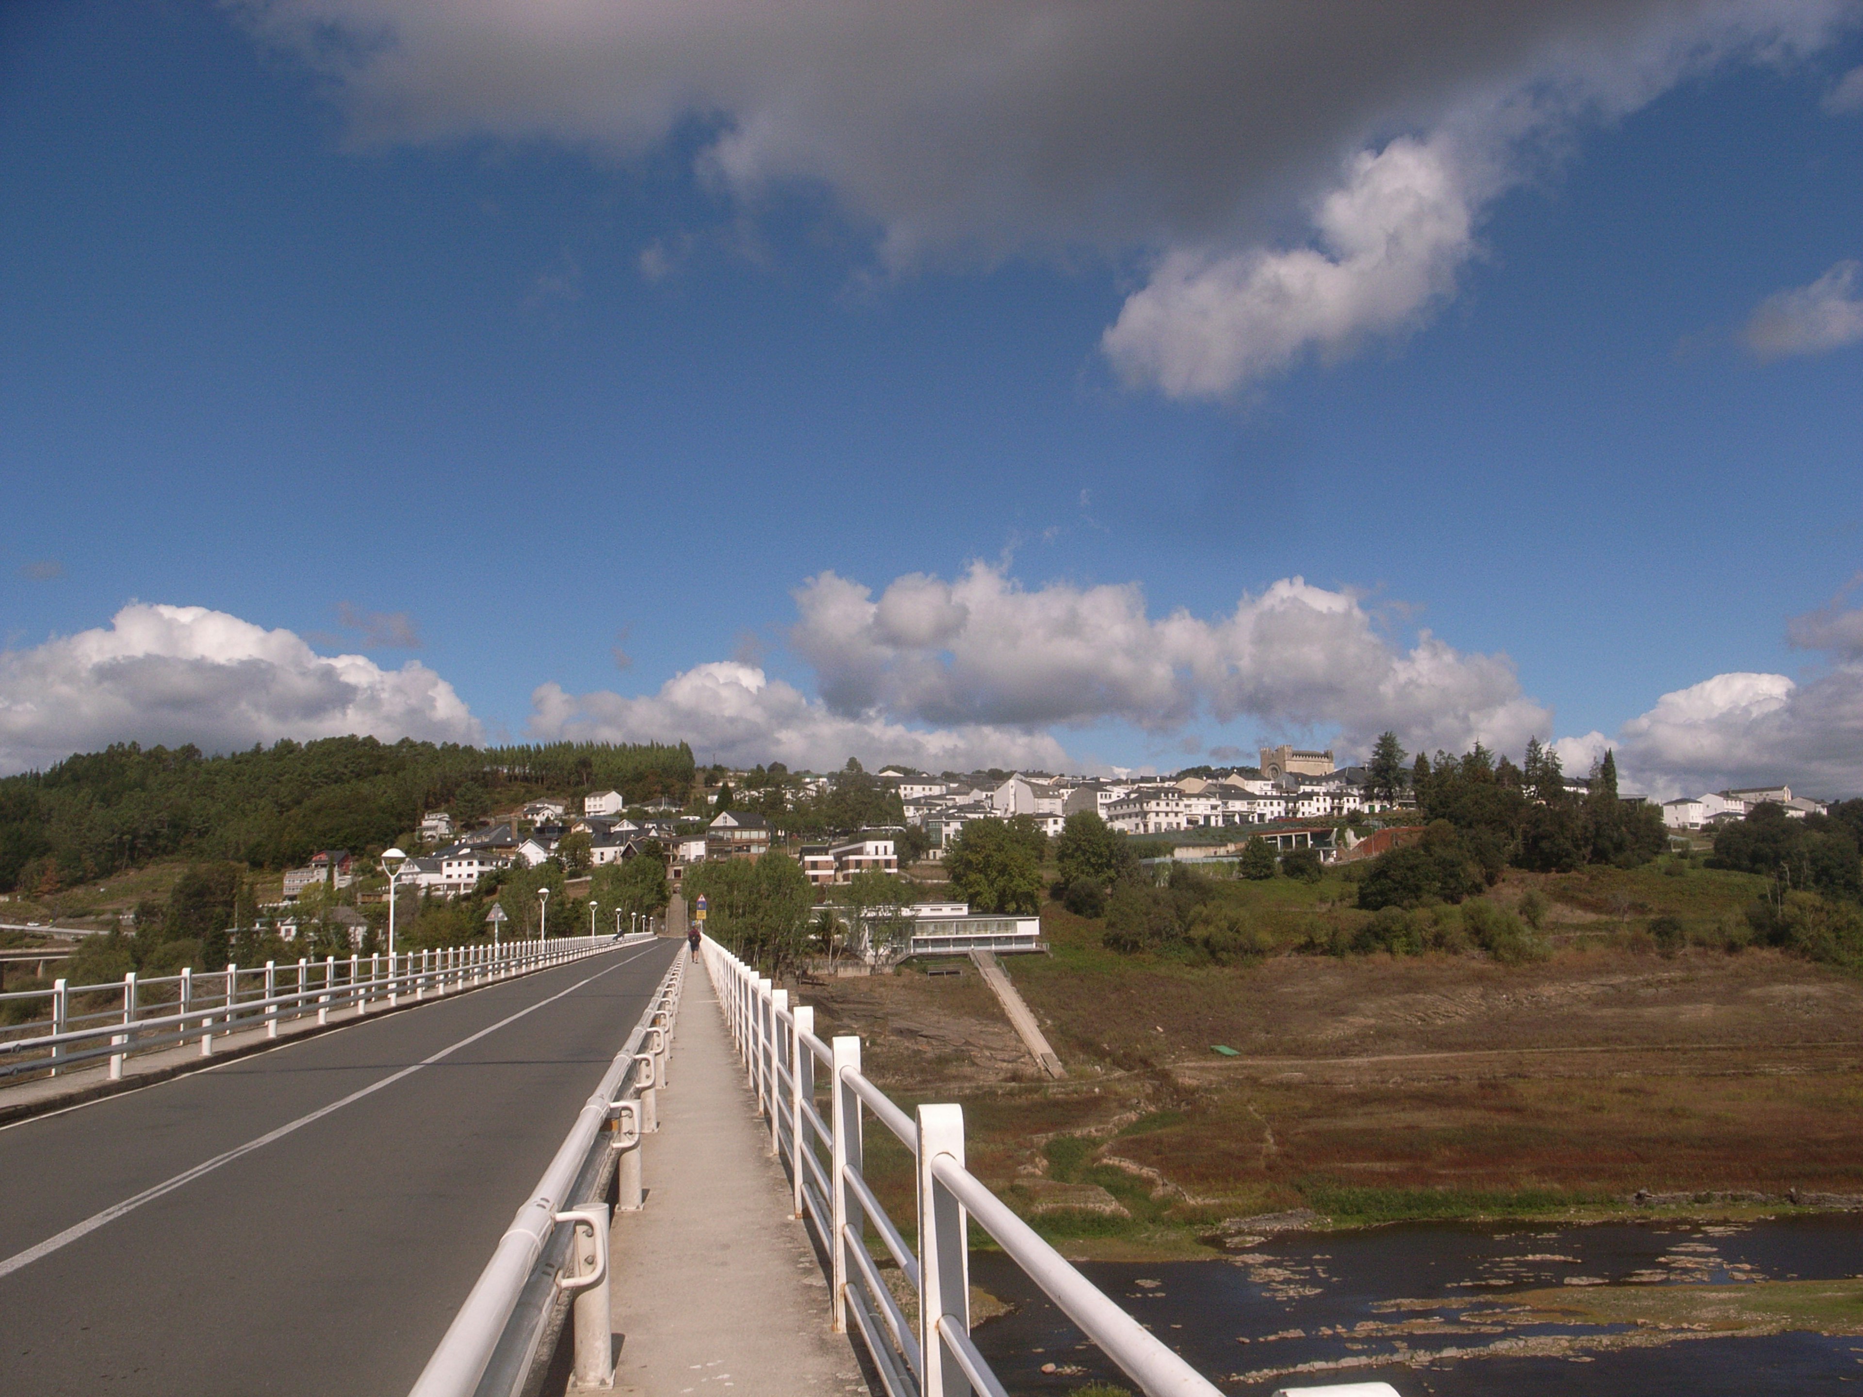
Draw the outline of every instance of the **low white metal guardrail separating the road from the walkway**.
M667 1088L686 965L680 946L639 1024L510 1220L410 1397L510 1397L520 1391L564 1295L574 1296L578 1382L613 1384L605 1188L615 1170L617 1207L641 1207L639 1146L643 1134L660 1129L658 1097Z

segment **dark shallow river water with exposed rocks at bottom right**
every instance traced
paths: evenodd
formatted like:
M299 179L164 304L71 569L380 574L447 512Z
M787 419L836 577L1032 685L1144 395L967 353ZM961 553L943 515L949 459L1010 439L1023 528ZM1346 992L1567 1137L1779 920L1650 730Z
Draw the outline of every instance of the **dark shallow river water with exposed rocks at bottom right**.
M1505 1317L1509 1295L1548 1287L1863 1276L1863 1218L1854 1214L1725 1226L1414 1224L1230 1246L1222 1261L1081 1270L1235 1393L1382 1380L1403 1397L1863 1395L1863 1337L1664 1332L1652 1347L1621 1347L1656 1334ZM1069 1393L1095 1378L1131 1386L1012 1261L972 1254L971 1272L1015 1306L976 1330L1012 1393ZM1313 1367L1289 1373L1302 1365Z

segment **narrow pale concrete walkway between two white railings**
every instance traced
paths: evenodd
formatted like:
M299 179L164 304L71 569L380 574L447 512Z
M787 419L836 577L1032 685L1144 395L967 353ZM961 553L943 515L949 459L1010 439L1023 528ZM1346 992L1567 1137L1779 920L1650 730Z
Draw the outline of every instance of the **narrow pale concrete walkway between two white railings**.
M646 1207L617 1213L611 1235L617 1391L864 1395L699 963L686 974L660 1133L643 1149Z

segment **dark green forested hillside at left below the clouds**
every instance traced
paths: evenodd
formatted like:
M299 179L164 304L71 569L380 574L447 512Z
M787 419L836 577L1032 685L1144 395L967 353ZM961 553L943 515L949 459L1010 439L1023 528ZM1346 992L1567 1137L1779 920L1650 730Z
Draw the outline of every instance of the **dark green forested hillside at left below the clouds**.
M533 793L609 788L630 801L684 799L691 782L686 743L475 749L328 738L231 756L114 745L0 779L0 892L54 892L168 857L283 868L317 849L391 844L425 810L469 821Z

